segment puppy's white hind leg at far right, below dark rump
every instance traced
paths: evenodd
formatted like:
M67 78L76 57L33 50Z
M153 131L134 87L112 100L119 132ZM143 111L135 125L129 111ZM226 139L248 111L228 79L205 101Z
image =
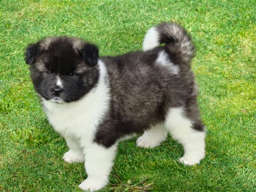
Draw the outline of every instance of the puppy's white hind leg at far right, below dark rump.
M183 107L170 108L165 125L172 137L183 145L184 155L179 158L186 165L199 164L205 157L205 130L200 117L190 120Z

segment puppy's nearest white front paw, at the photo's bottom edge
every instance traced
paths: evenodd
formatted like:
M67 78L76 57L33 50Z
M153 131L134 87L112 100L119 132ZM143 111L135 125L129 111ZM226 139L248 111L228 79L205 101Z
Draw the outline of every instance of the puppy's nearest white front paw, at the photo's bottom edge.
M82 183L78 187L84 191L98 191L107 184L108 179L95 180L87 178L84 181L82 181Z

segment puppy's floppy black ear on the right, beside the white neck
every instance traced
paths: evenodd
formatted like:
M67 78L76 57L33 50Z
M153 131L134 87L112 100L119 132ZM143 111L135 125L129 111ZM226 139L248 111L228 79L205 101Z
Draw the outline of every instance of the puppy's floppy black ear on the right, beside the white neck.
M85 59L88 64L93 67L98 63L99 49L93 44L85 44L84 47L78 50L80 55Z

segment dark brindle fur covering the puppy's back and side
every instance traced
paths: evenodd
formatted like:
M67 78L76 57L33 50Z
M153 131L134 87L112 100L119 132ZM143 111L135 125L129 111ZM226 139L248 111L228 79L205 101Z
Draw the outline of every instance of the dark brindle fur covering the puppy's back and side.
M183 64L178 65L179 75L171 75L166 68L155 65L164 49L101 58L110 78L112 100L110 111L98 127L97 143L109 147L120 137L142 133L163 122L173 107L184 107L189 119L201 122L192 71ZM190 110L192 107L195 109Z

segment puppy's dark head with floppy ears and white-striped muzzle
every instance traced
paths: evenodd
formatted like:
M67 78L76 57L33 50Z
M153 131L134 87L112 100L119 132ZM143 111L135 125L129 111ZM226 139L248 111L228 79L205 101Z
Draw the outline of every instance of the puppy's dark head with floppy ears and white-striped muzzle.
M25 61L38 94L51 102L73 102L98 81L98 48L78 38L48 37L28 46Z

